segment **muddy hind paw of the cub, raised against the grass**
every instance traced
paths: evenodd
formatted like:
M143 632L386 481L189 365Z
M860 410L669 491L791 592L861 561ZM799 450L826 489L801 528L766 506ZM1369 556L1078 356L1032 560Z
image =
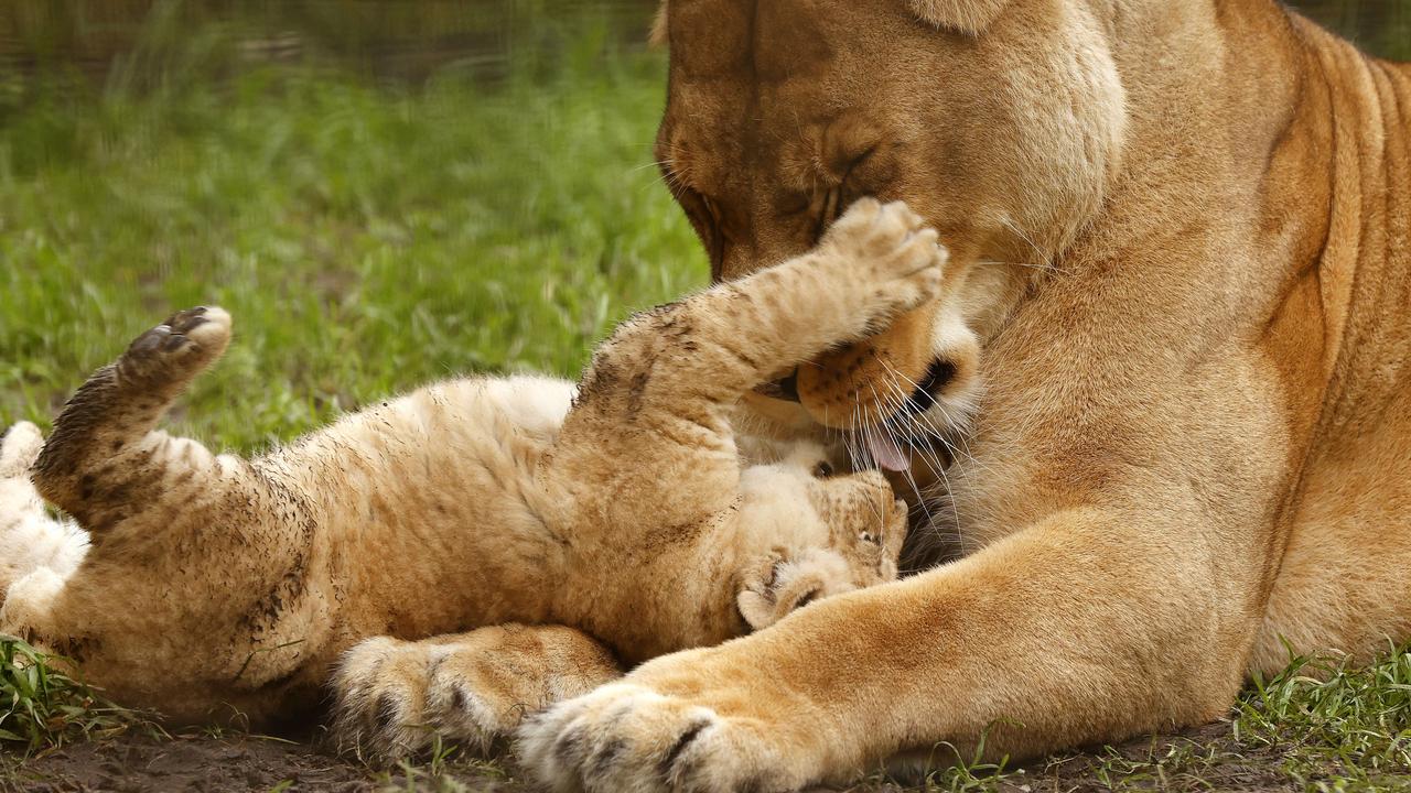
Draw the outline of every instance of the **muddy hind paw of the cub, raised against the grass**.
M134 339L117 368L128 382L182 382L219 358L229 343L230 315L214 306L196 306L174 313Z

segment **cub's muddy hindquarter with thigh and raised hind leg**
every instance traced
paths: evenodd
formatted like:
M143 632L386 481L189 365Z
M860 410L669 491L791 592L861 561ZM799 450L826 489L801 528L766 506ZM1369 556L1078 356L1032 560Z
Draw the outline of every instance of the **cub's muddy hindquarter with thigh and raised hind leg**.
M330 555L296 483L154 429L229 339L226 312L179 312L73 395L34 483L93 546L61 583L21 580L0 611L0 631L176 721L219 703L260 720L316 693L336 653Z

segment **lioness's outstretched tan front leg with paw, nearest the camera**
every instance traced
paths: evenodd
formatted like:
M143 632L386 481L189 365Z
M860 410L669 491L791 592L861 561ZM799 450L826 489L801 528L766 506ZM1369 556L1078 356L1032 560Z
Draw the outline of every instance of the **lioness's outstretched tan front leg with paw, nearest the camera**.
M1228 625L1113 574L1132 563L1094 552L1112 547L1106 529L1057 515L945 569L648 662L528 722L525 763L560 792L779 793L899 753L954 761L943 742L971 756L983 737L986 756L1024 758L1218 718L1240 680L1237 660L1206 656Z

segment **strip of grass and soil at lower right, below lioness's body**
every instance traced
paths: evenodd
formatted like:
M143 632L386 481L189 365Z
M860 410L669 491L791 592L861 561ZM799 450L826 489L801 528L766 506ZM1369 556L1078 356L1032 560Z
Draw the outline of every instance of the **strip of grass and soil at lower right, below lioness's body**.
M1273 679L1252 682L1226 722L1185 735L1023 768L945 746L935 756L951 765L927 775L917 787L926 793L1411 790L1411 649L1367 666L1295 658Z

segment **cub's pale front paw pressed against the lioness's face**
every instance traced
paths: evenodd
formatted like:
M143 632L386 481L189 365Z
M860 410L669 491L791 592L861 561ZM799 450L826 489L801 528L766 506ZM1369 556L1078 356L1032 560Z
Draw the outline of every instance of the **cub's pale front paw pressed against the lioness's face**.
M855 202L824 234L820 251L856 279L876 313L900 313L934 299L950 253L903 202Z

